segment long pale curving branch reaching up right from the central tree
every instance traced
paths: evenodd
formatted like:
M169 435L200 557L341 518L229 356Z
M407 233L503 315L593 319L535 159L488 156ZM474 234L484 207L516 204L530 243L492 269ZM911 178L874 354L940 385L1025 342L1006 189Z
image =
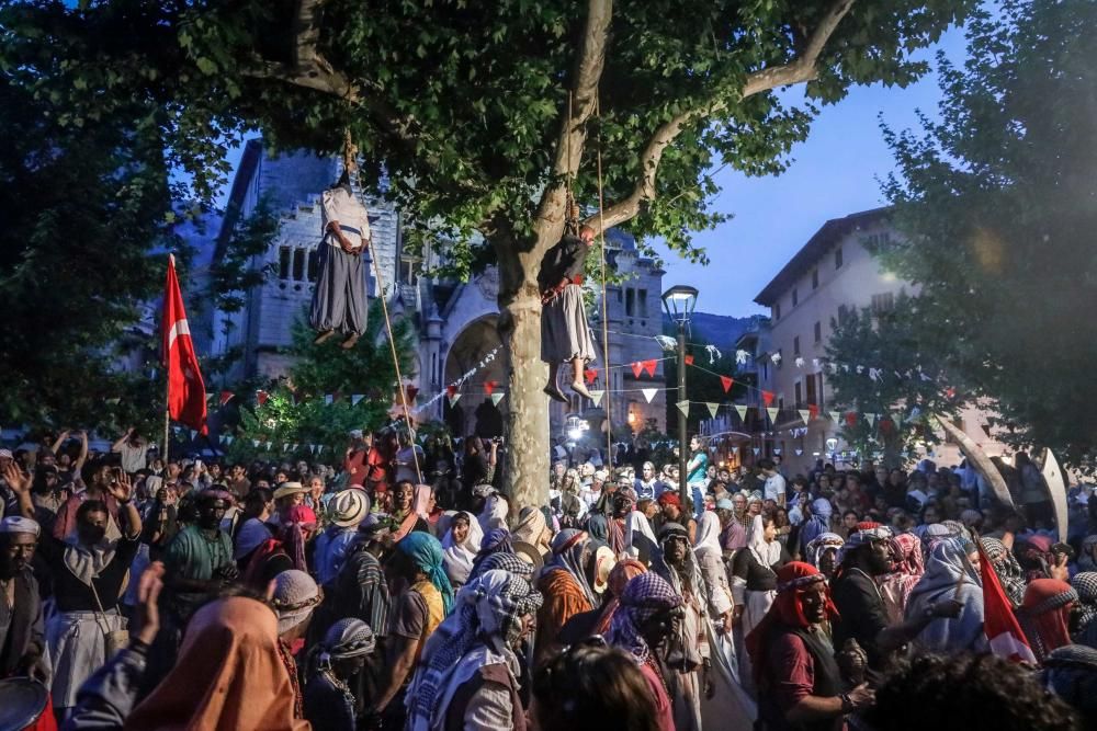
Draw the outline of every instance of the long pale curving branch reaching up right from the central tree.
M804 83L814 80L818 76L816 64L827 41L834 35L835 30L846 16L855 0L837 0L827 11L823 20L815 27L803 54L795 59L781 66L755 71L746 78L739 100L747 99L755 94L787 87L794 83ZM610 228L619 226L632 218L635 218L641 210L641 206L655 198L656 173L659 170L659 162L663 160L663 152L670 146L678 135L688 125L704 119L726 108L726 101L713 101L703 106L697 106L682 112L669 122L655 130L644 151L640 157L641 174L636 181L636 186L632 193L622 201L609 206L601 213L588 217L584 224L591 226L596 231L600 231L602 226Z

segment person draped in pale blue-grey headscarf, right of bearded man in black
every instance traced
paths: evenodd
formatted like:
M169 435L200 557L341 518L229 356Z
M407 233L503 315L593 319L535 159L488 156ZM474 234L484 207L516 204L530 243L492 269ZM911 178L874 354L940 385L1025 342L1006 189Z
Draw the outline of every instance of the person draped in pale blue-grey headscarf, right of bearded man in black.
M935 617L914 638L915 648L925 652L983 652L987 649L983 632L983 586L975 564L974 545L960 538L941 540L929 553L926 573L914 586L905 617L921 617L938 602L954 599L963 605L958 617Z

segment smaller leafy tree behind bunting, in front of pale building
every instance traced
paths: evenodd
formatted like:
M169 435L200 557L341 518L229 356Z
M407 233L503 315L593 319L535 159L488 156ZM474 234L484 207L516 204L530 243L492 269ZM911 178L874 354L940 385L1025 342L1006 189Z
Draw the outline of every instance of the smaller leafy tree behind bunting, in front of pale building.
M886 312L851 311L845 321L832 322L835 331L826 346L828 362L849 366L827 372L835 399L829 408L858 413L856 424L842 421L841 437L862 455L882 452L887 465L901 464L918 442L935 443L927 418L954 415L965 400L957 395L969 392L954 381L942 385L941 368L952 335L941 328L925 328L921 305L918 298L900 295ZM866 370L858 373L858 365ZM879 379L868 376L870 367L880 368ZM903 377L896 377L896 372ZM923 379L921 373L930 380ZM953 389L952 397L949 389ZM866 413L880 419L870 425Z

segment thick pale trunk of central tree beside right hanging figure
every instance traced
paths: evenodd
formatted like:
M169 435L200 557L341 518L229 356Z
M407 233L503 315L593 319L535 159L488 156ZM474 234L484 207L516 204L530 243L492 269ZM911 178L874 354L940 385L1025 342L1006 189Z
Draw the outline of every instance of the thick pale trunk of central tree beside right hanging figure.
M548 366L541 362L541 259L564 232L563 187L544 193L535 236L490 238L499 265L499 338L507 350L507 459L511 514L548 504ZM565 370L567 368L565 367ZM562 376L563 377L563 376Z

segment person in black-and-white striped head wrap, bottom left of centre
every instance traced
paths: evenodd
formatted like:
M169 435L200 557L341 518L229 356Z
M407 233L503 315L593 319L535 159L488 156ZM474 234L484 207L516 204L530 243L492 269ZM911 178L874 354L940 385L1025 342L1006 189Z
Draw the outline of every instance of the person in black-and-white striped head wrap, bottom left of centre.
M340 619L328 629L305 685L305 718L314 729L357 731L358 699L348 683L375 647L373 630L361 619Z

